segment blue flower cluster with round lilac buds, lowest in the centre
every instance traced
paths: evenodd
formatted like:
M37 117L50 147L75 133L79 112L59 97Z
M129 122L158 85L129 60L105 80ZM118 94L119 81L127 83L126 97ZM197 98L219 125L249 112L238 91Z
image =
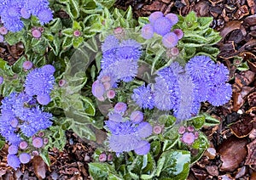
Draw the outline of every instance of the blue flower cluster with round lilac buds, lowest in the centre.
M152 133L151 125L143 121L141 111L133 111L130 117L124 117L127 105L118 103L114 110L108 113L105 128L111 134L108 137L109 148L119 155L134 150L137 155L146 155L150 143L145 139Z

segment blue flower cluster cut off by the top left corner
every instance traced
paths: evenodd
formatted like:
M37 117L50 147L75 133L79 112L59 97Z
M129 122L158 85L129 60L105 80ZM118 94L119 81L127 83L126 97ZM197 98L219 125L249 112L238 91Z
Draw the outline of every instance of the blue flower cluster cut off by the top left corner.
M0 2L0 16L3 25L9 31L20 31L23 28L21 18L29 19L37 16L41 25L53 19L48 0L2 0Z

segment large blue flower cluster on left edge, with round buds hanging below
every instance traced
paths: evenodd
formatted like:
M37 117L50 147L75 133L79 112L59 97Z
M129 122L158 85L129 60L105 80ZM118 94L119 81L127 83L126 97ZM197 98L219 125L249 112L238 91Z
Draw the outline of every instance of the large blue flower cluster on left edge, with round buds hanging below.
M21 155L20 158L15 155L18 153L21 134L32 137L38 131L50 127L52 115L44 112L35 99L26 93L11 93L9 97L3 98L0 110L0 133L11 144L8 164L16 169L20 162L25 164L30 160L26 161L28 154Z

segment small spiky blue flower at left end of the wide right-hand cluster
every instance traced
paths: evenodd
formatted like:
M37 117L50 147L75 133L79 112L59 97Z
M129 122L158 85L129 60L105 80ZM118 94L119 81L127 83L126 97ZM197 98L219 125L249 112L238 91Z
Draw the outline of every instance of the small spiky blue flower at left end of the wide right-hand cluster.
M154 95L149 84L147 87L143 84L143 86L133 89L131 98L143 109L152 110L154 108Z

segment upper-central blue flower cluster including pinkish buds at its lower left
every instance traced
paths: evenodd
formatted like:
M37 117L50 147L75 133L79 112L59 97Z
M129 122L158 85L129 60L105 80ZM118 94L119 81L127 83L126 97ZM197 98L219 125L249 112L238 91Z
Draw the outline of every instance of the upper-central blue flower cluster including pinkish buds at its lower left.
M113 98L117 82L131 82L137 75L141 44L135 40L119 41L112 35L102 43L102 71L92 85L92 93L99 100Z

